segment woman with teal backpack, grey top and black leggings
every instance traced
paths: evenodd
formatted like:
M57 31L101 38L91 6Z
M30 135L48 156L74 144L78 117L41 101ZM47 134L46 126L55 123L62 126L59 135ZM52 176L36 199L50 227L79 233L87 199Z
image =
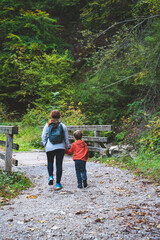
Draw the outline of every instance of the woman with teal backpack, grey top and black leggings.
M60 142L53 142L54 132L51 138L52 129L62 128L62 140ZM54 131L54 130L53 130ZM51 142L52 141L52 142ZM47 169L49 174L48 184L53 185L53 170L54 170L54 156L56 157L56 189L61 189L61 177L62 177L62 163L65 153L65 149L68 149L68 130L67 127L60 122L60 112L58 110L53 110L51 112L51 119L43 128L42 142L45 146L45 151L47 154Z

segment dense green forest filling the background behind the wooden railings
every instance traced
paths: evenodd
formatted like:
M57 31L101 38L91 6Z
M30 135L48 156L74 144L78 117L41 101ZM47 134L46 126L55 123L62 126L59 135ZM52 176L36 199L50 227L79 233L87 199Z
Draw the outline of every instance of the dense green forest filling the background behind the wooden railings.
M111 140L155 159L158 174L160 0L1 0L0 9L1 125L36 128L53 109L67 125L112 124Z

